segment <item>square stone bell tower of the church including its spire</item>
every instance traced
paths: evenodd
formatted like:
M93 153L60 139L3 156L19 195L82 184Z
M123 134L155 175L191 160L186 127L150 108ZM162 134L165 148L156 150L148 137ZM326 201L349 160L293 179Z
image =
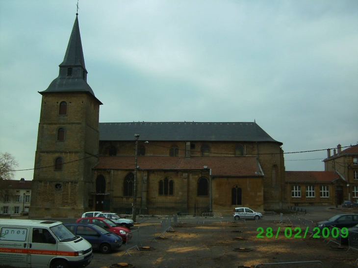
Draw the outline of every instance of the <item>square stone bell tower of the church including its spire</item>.
M102 102L87 84L78 14L59 75L42 92L30 218L80 217L92 207Z

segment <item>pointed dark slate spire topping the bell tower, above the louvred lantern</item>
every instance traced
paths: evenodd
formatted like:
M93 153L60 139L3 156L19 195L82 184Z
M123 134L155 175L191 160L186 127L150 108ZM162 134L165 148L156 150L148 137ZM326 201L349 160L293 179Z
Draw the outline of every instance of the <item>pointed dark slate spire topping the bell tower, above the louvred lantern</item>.
M84 70L86 70L77 15L74 26L72 28L70 40L68 42L65 57L59 66L81 66Z

